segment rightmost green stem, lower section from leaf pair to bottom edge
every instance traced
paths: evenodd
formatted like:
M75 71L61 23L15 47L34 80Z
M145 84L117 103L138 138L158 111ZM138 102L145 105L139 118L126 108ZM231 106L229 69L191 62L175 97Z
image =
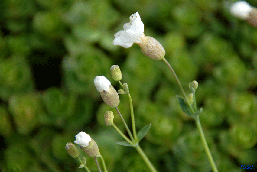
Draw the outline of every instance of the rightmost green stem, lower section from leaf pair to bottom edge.
M218 172L218 169L217 169L217 167L215 165L215 162L214 162L213 157L211 155L210 149L208 147L207 141L205 139L205 136L204 136L204 133L203 133L203 129L202 129L202 126L201 126L201 123L200 123L200 120L199 120L199 115L197 115L197 117L195 118L195 123L196 123L197 129L198 129L198 131L200 133L200 138L201 138L201 140L203 142L204 150L205 150L205 152L207 154L207 157L208 157L208 159L210 161L212 170L213 170L213 172Z

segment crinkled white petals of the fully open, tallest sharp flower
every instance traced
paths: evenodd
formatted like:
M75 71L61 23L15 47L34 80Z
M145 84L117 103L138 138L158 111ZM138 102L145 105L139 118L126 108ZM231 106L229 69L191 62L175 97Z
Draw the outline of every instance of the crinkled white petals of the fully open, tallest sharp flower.
M140 37L144 37L144 24L138 12L129 17L129 23L123 25L124 31L119 31L114 34L114 45L119 45L124 48L129 48L136 42L142 42Z

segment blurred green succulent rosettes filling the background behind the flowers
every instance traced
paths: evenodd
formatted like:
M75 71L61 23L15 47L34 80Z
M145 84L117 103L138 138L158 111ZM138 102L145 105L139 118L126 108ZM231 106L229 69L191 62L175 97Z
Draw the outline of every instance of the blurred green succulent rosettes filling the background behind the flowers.
M256 170L257 29L230 15L232 2L1 0L0 171L85 171L65 150L80 131L96 141L108 171L149 171L133 148L115 144L122 137L104 125L104 112L114 109L93 79L105 75L120 89L110 75L113 64L129 85L137 129L152 123L140 144L159 172L211 171L194 121L178 105L181 92L168 67L137 45L112 44L136 11L145 35L164 46L186 92L190 81L199 82L200 121L219 171L246 171L241 165ZM129 122L128 97L120 95L120 102ZM93 158L86 160L97 171Z

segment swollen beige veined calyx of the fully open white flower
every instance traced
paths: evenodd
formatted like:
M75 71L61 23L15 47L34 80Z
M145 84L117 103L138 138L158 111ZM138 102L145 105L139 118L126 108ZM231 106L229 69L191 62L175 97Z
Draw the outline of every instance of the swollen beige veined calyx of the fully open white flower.
M153 37L141 37L142 42L137 42L143 54L154 60L161 60L165 56L162 45Z

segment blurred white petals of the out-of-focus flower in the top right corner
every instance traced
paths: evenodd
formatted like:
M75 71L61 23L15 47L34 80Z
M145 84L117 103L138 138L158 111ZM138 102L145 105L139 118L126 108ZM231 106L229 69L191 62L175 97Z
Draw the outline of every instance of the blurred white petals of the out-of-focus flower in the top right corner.
M241 19L247 19L252 12L252 6L246 1L238 1L230 7L230 13Z

